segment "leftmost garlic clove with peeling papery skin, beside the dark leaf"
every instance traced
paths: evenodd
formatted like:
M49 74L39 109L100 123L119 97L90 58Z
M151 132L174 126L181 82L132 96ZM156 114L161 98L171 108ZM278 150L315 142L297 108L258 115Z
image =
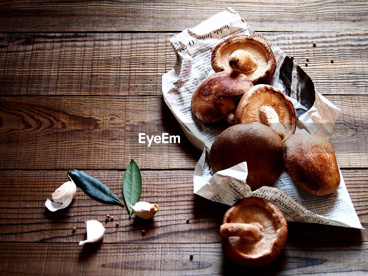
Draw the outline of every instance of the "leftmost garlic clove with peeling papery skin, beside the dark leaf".
M52 193L53 201L47 199L45 206L52 212L66 208L71 203L76 193L77 186L73 180L70 179L70 181L67 181Z

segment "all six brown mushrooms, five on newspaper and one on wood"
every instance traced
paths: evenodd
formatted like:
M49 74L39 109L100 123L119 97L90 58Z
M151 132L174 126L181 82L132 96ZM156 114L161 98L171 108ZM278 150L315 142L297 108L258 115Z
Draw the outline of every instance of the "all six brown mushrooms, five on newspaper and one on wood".
M297 116L291 100L267 85L276 59L266 40L233 35L213 50L215 74L194 92L193 114L205 123L231 124L213 142L214 173L247 162L252 191L272 185L284 169L294 182L314 195L328 195L340 184L332 145L318 134L294 134ZM220 227L223 251L243 266L262 266L282 251L287 223L270 201L248 197L225 214Z

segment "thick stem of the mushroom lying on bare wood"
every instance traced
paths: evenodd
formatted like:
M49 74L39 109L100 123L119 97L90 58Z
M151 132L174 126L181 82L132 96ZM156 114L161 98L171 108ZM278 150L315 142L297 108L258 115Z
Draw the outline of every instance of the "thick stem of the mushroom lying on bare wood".
M224 223L220 226L220 235L224 238L241 237L247 240L248 243L254 244L263 237L261 227L261 224Z

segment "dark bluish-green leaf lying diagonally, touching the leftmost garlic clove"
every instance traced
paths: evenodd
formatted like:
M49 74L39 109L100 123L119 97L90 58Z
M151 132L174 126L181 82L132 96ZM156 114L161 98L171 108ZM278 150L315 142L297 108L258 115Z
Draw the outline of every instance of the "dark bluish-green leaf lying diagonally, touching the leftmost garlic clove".
M124 206L120 199L118 199L118 197L98 179L80 170L72 169L69 170L68 173L74 183L90 197L105 203Z

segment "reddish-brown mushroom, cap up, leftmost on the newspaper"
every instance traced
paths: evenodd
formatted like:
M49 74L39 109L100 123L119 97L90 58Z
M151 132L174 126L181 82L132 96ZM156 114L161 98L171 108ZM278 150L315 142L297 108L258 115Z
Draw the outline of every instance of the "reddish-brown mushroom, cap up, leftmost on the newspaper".
M241 96L251 86L252 82L243 73L232 70L215 73L193 93L192 112L205 123L215 123L235 113Z

